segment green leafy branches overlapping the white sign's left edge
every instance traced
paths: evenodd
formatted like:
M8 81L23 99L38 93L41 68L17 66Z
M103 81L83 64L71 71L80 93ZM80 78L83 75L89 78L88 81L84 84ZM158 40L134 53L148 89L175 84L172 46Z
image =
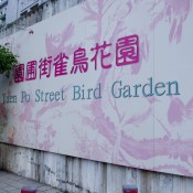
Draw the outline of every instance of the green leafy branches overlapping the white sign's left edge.
M17 56L9 49L0 45L0 74L10 76L10 71L18 64Z

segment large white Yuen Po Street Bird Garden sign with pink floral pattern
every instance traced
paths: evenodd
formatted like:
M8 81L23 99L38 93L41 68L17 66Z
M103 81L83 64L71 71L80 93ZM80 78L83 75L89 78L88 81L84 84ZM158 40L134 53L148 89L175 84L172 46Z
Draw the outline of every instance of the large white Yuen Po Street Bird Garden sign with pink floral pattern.
M1 141L193 176L191 0L89 0L2 41Z

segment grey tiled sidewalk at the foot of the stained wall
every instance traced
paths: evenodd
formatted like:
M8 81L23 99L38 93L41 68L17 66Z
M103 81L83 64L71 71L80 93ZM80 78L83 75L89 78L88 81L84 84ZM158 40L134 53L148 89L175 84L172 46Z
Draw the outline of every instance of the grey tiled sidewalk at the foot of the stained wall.
M52 186L0 171L0 193L21 193L23 186L35 186L37 190L36 193L62 193L62 191Z

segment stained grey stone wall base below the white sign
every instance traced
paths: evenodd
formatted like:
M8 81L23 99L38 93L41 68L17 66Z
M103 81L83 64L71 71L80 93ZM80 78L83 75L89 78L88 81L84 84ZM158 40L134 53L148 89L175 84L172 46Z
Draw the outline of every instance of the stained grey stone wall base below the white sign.
M130 169L0 143L0 168L69 193L192 193L193 179Z

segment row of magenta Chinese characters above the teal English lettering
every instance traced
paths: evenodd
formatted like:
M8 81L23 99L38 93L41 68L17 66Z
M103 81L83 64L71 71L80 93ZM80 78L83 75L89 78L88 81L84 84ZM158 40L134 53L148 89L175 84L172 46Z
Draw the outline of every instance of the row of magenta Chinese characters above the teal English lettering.
M109 69L112 64L109 63L109 57L112 44L104 41L101 44L96 43L89 51L93 57L87 57L87 51L84 47L78 47L73 55L73 64L68 64L69 56L65 53L58 53L53 58L52 56L43 57L40 61L30 61L24 64L19 64L14 68L14 82L21 83L24 81L34 81L37 77L49 78L51 71L54 69L54 76L66 76L68 74L87 73L89 65L94 65L95 71L98 67ZM128 35L117 40L116 42L116 66L126 66L139 62L139 37L138 35ZM89 62L92 64L89 64ZM52 69L53 66L53 69Z

